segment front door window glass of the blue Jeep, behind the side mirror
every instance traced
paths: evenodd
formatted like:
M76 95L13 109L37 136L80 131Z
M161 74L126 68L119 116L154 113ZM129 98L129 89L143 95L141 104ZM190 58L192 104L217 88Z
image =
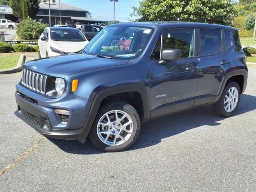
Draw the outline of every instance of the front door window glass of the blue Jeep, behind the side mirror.
M181 58L193 57L195 52L195 29L165 30L162 33L162 50L179 49ZM152 52L152 58L160 60L161 36Z

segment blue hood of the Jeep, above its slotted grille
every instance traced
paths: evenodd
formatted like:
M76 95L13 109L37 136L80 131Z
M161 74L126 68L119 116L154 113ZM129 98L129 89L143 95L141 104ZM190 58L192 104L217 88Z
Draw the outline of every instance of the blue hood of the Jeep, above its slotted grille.
M127 64L128 60L106 59L86 54L66 54L27 62L24 68L48 76L65 78L68 75Z

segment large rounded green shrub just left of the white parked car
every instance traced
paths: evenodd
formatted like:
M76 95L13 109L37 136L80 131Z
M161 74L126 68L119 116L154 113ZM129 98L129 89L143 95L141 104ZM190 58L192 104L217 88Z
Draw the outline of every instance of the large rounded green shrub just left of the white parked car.
M36 20L27 18L20 22L16 33L22 39L38 39L44 31L44 28L46 28L46 24L44 24L42 20L36 22Z

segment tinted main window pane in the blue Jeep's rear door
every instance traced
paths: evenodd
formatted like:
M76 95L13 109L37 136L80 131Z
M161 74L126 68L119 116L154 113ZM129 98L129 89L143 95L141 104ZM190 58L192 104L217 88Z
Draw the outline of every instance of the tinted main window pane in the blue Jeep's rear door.
M200 29L201 55L216 54L222 51L221 30Z

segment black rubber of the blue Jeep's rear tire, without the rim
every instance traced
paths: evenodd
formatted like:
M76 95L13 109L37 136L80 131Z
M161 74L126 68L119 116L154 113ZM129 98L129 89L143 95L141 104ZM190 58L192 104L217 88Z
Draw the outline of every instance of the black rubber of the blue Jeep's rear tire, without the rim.
M232 111L232 112L227 112L224 108L224 100L225 100L225 96L228 92L228 90L232 87L235 87L237 90L238 90L238 102L236 104L236 107L235 109ZM240 86L234 82L234 81L231 81L229 82L228 84L226 84L223 92L222 92L222 95L220 97L220 99L218 100L218 102L216 102L214 105L212 105L212 108L214 110L214 112L216 114L218 114L219 116L222 116L222 117L230 117L232 116L234 113L236 113L236 110L238 109L238 106L239 106L239 103L240 103L240 97L241 97L241 90L240 90Z

